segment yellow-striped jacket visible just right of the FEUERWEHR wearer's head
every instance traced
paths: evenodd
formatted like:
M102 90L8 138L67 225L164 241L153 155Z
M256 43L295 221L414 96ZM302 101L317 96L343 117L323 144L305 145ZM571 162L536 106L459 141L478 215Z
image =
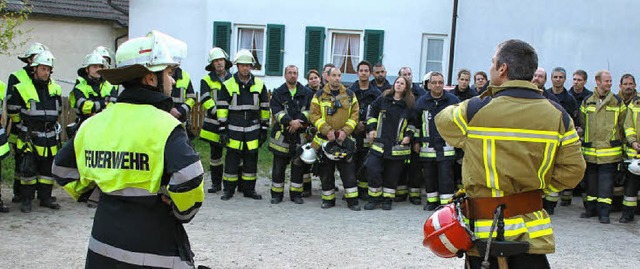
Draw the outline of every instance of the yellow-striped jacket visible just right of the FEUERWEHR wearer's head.
M196 104L196 93L193 91L191 76L184 69L176 68L173 78L176 80L176 84L171 89L171 99L173 99L174 107L182 114L179 120L185 122L193 105Z

